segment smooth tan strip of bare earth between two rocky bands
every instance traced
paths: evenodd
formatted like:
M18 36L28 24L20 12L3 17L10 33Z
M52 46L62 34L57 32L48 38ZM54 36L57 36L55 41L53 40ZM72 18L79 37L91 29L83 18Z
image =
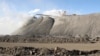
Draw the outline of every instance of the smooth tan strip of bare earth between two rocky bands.
M83 44L83 43L0 43L0 47L15 47L15 46L25 46L25 47L36 47L36 48L65 48L67 50L100 50L100 43L95 44Z

